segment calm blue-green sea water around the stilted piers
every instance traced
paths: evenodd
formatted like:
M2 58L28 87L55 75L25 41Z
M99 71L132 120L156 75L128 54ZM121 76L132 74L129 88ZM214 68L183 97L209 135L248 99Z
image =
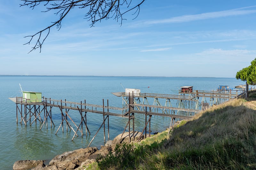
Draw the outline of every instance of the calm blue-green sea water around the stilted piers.
M102 99L109 100L109 106L122 107L122 98L111 92L124 92L124 88L140 89L142 93L178 94L180 86L193 86L194 90L216 90L219 85L234 87L244 84L236 78L197 77L97 77L97 76L0 76L0 169L12 169L20 159L52 159L57 154L86 147L102 123L102 115L87 115L91 135L75 137L74 132L60 130L55 135L61 121L60 110L52 110L55 127L48 129L40 124L32 126L16 124L16 105L8 97L20 95L19 83L23 91L42 92L46 98L102 105ZM149 87L149 88L148 88ZM69 111L76 116L77 111ZM78 115L77 115L78 116ZM60 118L58 118L60 117ZM137 116L139 117L139 116ZM20 117L19 117L20 120ZM141 119L143 120L143 118ZM144 120L145 121L145 120ZM123 132L127 120L110 117L110 139ZM135 130L142 131L145 122L136 121ZM152 131L166 129L170 120L159 118L151 121ZM72 122L71 122L72 124ZM73 126L74 127L74 126ZM79 134L78 134L79 135ZM91 146L103 145L103 129Z

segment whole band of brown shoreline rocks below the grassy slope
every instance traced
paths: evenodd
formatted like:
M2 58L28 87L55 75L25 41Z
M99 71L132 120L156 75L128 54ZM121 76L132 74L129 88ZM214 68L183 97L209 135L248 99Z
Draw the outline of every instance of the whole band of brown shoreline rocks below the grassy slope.
M144 136L141 132L134 132L135 141ZM113 151L116 144L129 142L129 132L125 132L122 139L122 134L116 136L113 141L109 140L105 146L101 146L100 150L97 147L80 148L74 151L64 152L55 156L49 165L45 165L44 160L18 160L13 165L13 170L78 170L83 169L95 161L99 155L106 155L109 151ZM130 135L131 141L133 134Z

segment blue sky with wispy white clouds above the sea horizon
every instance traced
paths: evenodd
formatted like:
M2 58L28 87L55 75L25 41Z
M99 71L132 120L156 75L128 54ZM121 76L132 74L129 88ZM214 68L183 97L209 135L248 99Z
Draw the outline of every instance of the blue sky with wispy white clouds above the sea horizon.
M0 75L235 78L256 57L255 0L146 0L136 18L130 11L122 25L110 18L93 27L74 8L41 53L28 53L35 44L24 37L59 16L21 3L0 0Z

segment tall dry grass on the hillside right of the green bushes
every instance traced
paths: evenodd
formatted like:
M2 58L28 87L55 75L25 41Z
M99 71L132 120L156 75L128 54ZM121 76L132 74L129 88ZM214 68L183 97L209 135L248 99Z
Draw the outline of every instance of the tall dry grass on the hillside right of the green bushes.
M164 148L148 159L154 163L145 166L149 169L255 169L255 152L256 111L245 100L235 99L200 113L174 129ZM141 169L146 169L145 166Z

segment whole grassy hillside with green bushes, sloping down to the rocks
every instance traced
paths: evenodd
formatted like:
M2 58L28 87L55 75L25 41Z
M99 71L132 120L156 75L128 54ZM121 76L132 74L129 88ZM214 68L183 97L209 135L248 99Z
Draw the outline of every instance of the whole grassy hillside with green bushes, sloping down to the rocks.
M97 159L99 169L256 169L256 92L234 99L140 144ZM255 105L254 105L255 102Z

